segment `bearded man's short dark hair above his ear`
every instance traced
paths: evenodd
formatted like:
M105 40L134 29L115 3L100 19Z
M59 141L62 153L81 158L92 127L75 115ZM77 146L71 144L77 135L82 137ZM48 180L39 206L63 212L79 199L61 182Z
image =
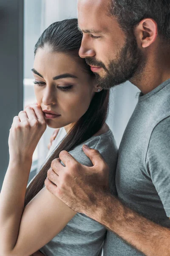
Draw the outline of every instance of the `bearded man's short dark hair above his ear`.
M159 35L170 41L170 0L111 0L109 8L125 32L144 18L152 18Z

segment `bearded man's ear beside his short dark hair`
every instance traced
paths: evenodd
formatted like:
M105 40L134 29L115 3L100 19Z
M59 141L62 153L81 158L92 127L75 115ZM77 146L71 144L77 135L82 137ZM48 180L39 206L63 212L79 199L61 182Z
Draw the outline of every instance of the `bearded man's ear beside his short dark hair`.
M158 26L155 20L146 18L141 20L135 29L136 40L142 48L149 47L156 41Z

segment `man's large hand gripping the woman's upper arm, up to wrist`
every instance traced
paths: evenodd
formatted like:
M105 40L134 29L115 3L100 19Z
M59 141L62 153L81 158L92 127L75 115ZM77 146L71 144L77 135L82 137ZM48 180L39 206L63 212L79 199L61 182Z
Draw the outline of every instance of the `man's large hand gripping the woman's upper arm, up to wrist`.
M94 166L83 166L67 151L62 151L59 158L51 163L45 186L68 207L76 212L87 213L95 208L98 200L102 200L98 194L102 195L105 190L108 190L109 168L99 151L85 148L85 146L83 146L83 151ZM65 167L62 166L60 160Z

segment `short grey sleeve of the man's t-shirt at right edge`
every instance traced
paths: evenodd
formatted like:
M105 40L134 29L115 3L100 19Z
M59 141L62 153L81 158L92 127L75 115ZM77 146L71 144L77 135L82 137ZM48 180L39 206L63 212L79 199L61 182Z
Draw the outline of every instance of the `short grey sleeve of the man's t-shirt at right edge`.
M167 217L170 217L170 116L153 129L146 165Z

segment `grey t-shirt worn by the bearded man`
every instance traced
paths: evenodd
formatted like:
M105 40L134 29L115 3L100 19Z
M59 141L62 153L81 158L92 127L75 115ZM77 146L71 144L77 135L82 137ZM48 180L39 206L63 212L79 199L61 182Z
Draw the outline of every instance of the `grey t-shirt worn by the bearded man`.
M116 189L130 208L170 227L170 79L139 95L119 147ZM104 256L137 255L144 254L108 231Z

